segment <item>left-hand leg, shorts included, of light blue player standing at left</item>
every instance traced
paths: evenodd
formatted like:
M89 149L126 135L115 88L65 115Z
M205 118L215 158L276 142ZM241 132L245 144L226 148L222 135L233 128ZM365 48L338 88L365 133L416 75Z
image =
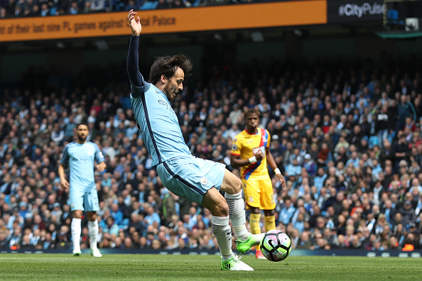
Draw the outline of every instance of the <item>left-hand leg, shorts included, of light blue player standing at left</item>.
M81 233L81 219L82 211L84 210L83 200L84 192L75 189L70 189L70 210L72 211L72 223L70 224L73 243L73 255L80 255L80 233Z

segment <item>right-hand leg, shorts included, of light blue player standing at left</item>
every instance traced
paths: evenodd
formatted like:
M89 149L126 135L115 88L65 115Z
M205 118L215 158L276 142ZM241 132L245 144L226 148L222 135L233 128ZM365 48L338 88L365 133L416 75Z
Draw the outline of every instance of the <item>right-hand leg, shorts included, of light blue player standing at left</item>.
M97 190L85 193L85 206L88 214L88 231L90 232L91 255L95 258L101 258L102 254L97 248L98 221L97 211L99 210Z

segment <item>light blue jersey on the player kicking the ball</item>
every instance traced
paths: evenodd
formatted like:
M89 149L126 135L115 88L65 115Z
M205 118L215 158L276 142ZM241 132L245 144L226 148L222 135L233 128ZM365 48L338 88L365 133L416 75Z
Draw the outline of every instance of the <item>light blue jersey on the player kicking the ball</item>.
M153 165L176 157L193 157L166 94L153 84L143 82L144 87L131 84L131 102Z

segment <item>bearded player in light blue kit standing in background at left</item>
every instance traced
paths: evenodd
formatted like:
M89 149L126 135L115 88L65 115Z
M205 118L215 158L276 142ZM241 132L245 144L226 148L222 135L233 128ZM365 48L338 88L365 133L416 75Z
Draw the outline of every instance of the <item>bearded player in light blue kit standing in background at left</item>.
M70 209L72 211L72 242L73 255L80 255L80 233L82 211L88 214L88 229L90 232L91 255L100 258L102 254L97 248L99 210L98 194L94 179L94 162L97 170L104 172L106 164L98 145L87 141L88 125L80 123L76 126L77 140L69 143L63 150L58 175L61 187L69 192ZM70 181L65 178L65 167L70 166ZM85 205L85 206L84 206Z

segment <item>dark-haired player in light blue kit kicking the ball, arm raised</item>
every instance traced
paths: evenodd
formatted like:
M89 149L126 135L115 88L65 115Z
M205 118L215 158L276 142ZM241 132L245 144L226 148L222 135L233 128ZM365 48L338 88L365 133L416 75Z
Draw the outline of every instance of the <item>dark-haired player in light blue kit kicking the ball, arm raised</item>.
M225 165L195 158L183 140L171 101L183 90L192 62L185 55L158 57L151 67L149 81L139 72L139 35L142 26L136 12L127 16L132 31L127 71L131 82L131 102L136 123L158 176L174 194L209 209L212 233L222 254L222 270L253 270L232 252L232 231L237 233L237 250L245 253L261 241L263 233L251 234L245 226L242 181ZM225 192L224 197L220 191Z

